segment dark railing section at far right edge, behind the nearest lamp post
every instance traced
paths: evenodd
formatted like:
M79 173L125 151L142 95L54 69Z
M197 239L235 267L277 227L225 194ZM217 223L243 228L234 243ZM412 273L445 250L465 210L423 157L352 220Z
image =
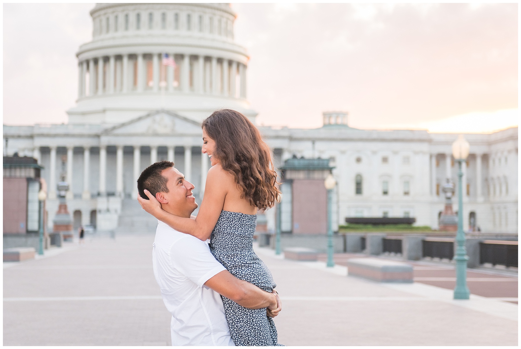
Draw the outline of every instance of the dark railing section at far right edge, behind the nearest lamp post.
M485 240L480 242L479 263L517 267L517 241Z

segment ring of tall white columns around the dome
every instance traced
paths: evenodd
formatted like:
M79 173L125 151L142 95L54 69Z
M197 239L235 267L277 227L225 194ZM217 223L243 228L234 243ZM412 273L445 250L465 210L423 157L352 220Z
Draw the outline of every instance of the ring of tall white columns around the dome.
M79 99L130 92L159 93L163 87L170 94L246 98L245 64L217 56L168 53L176 58L176 73L172 67L163 66L162 55L116 54L80 61Z

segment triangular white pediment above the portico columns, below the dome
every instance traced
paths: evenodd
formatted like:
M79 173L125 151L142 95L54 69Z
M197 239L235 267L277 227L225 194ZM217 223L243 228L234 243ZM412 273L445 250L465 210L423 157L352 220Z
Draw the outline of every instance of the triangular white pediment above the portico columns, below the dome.
M201 135L201 124L179 114L158 110L108 128L106 135Z

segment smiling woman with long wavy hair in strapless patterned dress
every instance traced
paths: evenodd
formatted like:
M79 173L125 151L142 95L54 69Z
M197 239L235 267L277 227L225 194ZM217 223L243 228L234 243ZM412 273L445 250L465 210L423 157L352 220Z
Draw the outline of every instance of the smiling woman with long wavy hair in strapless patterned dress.
M203 153L212 167L197 217L163 211L148 190L150 200L138 200L146 212L172 228L203 241L210 238L210 251L232 275L272 292L275 282L252 246L257 209L271 208L280 193L269 148L253 123L231 109L214 112L202 127ZM235 345L279 345L266 309L247 309L225 297L222 302Z

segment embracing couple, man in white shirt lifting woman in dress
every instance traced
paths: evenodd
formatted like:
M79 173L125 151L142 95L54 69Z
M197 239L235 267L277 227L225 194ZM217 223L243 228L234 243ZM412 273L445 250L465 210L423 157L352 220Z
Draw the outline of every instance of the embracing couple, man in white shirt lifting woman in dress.
M257 210L280 194L269 148L234 110L214 112L202 128L212 167L197 217L194 186L172 162L138 179L138 200L158 219L153 268L172 314L172 345L280 345L272 319L280 299L252 245Z

